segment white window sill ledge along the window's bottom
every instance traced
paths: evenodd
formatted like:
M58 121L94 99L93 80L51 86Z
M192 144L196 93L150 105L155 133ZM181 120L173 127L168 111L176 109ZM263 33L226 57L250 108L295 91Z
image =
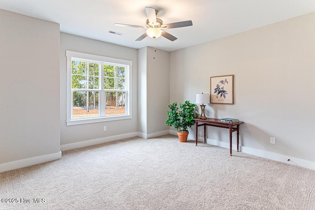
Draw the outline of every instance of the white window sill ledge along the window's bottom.
M132 115L99 117L99 118L89 118L89 119L75 119L75 120L73 119L73 120L67 120L66 124L68 126L68 125L79 125L79 124L106 122L106 121L114 121L114 120L126 120L126 119L132 119Z

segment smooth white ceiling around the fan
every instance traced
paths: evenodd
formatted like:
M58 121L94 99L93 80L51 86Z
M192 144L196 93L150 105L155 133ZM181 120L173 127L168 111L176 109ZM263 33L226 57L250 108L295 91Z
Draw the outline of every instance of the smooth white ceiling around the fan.
M135 41L145 29L115 23L145 26L145 6L156 8L163 24L192 21L165 30L177 40L156 39L158 49L174 51L314 12L315 0L0 0L1 9L59 23L62 32L136 49L154 40Z

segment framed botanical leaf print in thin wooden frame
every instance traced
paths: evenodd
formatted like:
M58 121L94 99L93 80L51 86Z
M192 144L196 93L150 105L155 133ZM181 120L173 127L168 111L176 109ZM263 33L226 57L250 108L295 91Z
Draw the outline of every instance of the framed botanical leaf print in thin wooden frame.
M210 103L234 104L234 75L210 78Z

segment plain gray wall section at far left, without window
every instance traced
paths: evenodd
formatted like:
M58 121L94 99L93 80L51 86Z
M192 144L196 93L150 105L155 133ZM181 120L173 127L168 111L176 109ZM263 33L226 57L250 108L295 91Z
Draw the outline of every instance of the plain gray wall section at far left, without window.
M59 24L0 9L0 164L60 152L59 46Z

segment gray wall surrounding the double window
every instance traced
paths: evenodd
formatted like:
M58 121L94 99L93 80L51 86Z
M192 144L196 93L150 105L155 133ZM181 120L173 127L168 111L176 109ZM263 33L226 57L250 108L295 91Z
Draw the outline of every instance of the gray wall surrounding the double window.
M131 60L132 63L132 119L97 122L81 125L66 126L66 56L65 51L106 56L117 59ZM61 71L61 145L73 144L87 140L116 136L126 133L138 132L137 118L137 50L96 41L81 36L61 33L60 35L60 71ZM107 126L107 131L103 131L103 126Z

